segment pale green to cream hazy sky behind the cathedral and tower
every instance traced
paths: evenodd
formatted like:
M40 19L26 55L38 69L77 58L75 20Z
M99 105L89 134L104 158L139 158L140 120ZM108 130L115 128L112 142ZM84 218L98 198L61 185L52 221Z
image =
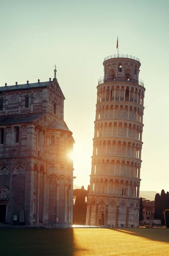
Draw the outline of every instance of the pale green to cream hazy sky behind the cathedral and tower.
M96 86L108 55L140 59L146 87L141 190L169 190L169 1L0 0L0 86L56 77L73 132L76 185L91 172Z

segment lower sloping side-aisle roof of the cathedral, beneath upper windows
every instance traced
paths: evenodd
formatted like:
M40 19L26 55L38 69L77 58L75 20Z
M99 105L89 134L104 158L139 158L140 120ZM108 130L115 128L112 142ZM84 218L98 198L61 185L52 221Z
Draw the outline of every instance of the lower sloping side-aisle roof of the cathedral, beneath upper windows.
M17 114L9 116L0 116L0 125L33 122L39 117L43 116L44 113L32 113L32 114Z

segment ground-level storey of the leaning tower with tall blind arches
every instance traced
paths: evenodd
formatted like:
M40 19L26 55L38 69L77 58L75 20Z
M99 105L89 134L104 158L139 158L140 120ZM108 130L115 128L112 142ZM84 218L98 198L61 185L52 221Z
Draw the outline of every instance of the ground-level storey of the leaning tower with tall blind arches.
M99 198L89 195L86 225L113 227L137 227L139 222L139 198Z

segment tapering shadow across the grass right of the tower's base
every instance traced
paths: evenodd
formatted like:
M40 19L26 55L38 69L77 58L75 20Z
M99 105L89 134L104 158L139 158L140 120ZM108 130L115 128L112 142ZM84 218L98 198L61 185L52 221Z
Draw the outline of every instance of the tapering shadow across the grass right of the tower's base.
M154 241L161 241L169 243L169 229L157 229L157 228L135 228L135 229L113 229L117 232L126 233L132 236L140 236L146 239L151 239Z

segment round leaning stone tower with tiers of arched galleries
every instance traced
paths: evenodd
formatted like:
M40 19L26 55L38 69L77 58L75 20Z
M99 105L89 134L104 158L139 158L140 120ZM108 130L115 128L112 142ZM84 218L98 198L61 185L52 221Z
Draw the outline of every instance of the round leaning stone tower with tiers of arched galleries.
M111 55L103 66L104 77L97 86L86 224L136 226L145 92L138 79L141 63L131 55Z

